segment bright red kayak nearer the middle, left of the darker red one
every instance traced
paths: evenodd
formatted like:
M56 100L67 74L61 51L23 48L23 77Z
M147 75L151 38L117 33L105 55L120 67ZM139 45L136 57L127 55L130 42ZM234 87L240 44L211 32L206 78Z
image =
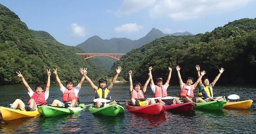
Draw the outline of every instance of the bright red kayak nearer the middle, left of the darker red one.
M145 113L150 115L158 115L160 112L164 112L165 110L164 104L162 103L156 103L140 107L130 106L128 105L128 103L126 103L125 108L128 109L128 111L130 112Z

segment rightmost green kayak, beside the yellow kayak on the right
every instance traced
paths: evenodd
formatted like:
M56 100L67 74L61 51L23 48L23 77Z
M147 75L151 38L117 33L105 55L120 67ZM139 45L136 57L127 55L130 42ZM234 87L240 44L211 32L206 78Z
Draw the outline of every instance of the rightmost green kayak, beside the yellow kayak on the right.
M196 103L196 107L194 109L220 110L225 106L225 104L226 104L226 100L201 102L201 103Z

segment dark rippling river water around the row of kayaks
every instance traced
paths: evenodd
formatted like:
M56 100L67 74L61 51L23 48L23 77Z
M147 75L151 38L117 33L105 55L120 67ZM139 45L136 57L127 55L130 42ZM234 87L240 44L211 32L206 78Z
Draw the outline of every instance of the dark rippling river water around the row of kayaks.
M33 89L35 84L29 84ZM45 85L44 85L45 87ZM112 99L129 99L128 83L115 84ZM179 86L169 86L169 96L179 96ZM256 132L256 87L255 86L215 86L216 96L237 94L242 99L252 99L249 109L194 110L190 113L165 111L159 115L125 113L115 117L93 115L88 108L73 115L23 118L0 123L0 133L255 133ZM91 102L94 91L88 83L79 92L81 102ZM149 89L146 97L153 97ZM24 85L0 86L0 106L7 107L15 99L28 101ZM51 84L47 102L61 100L62 93L57 84ZM123 105L124 106L124 105Z

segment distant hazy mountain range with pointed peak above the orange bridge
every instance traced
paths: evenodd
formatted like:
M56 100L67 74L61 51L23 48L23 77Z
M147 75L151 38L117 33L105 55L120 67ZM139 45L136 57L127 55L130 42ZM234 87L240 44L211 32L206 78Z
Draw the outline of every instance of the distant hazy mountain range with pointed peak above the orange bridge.
M110 40L103 40L95 35L88 38L83 43L78 44L76 47L84 49L87 53L127 53L134 48L139 48L144 44L167 35L180 36L192 34L189 32L166 34L156 28L152 28L146 36L139 40L132 41L127 38L111 38Z

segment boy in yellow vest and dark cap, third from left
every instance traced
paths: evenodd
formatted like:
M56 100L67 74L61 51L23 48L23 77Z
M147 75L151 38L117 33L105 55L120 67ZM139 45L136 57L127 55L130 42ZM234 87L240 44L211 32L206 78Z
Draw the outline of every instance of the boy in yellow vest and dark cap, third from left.
M95 86L92 82L92 80L86 75L87 74L87 68L84 69L84 77L86 78L86 80L90 83L90 85L92 86L92 88L94 89L95 91L95 96L94 96L94 99L97 99L97 98L104 98L104 99L107 99L107 100L110 100L111 99L111 96L110 96L110 90L112 89L115 81L116 81L116 78L118 77L118 75L120 74L121 70L122 70L122 67L121 66L118 66L118 68L116 69L116 75L114 76L114 78L112 79L112 82L110 83L109 86L107 86L108 84L108 80L106 78L101 78L99 80L99 87L98 86ZM107 104L107 106L109 105L113 105L113 104L116 104L116 101L112 101L110 103ZM104 107L104 104L102 104L100 101L97 101L96 104L95 104L96 108L102 108Z

